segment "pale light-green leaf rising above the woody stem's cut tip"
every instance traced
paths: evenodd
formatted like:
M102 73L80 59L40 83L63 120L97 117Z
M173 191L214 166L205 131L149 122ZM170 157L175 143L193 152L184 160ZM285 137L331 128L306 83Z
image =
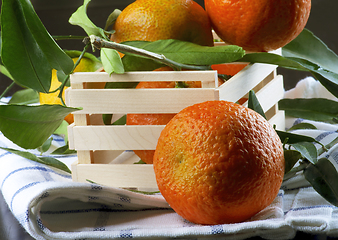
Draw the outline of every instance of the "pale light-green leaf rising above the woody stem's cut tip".
M96 35L101 37L106 37L102 35L102 31L97 27L87 16L87 7L91 0L84 0L83 5L80 6L69 18L69 23L72 25L77 25L83 28L88 36Z

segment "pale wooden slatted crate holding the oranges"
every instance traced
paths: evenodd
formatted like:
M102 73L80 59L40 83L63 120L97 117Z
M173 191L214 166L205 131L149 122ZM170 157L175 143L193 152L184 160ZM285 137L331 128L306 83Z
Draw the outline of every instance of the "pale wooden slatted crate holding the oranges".
M86 89L85 83L141 81L201 81L202 88L182 89ZM221 86L216 71L155 71L112 74L74 73L66 91L66 103L82 107L68 128L69 147L77 150L72 166L74 181L93 181L113 187L152 191L157 189L153 166L134 164L139 159L130 150L156 148L164 126L103 125L102 114L120 117L127 113L177 113L207 100L236 102L253 89L271 124L284 129L284 112L277 102L283 98L283 77L276 66L251 64ZM244 103L243 105L247 105Z

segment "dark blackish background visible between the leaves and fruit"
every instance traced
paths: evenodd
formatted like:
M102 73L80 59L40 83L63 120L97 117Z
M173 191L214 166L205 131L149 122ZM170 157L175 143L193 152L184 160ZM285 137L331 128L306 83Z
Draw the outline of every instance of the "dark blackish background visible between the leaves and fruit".
M68 19L76 9L82 5L83 0L32 0L33 6L41 21L51 35L80 35L85 32L78 26L68 23ZM89 18L100 27L104 27L108 15L115 9L122 10L133 0L97 0L91 1L88 8ZM203 0L197 0L203 5ZM329 48L338 53L338 1L337 0L312 0L312 9L306 28L323 40ZM84 45L80 40L62 40L58 44L68 50L82 50ZM306 72L278 69L284 76L285 89L290 89L305 76ZM5 76L0 74L0 93L10 84ZM10 92L12 94L16 89Z

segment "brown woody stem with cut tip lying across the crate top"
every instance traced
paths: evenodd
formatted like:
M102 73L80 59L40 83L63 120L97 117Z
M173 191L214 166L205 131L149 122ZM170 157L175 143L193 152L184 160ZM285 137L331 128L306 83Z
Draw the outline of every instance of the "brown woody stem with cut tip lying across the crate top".
M188 65L188 64L182 64L175 62L173 60L170 60L166 58L163 54L157 54L154 52L150 52L141 48L136 48L132 46L127 46L124 44L112 42L112 41L106 41L100 37L91 35L90 37L90 42L93 47L97 49L101 48L110 48L110 49L115 49L117 51L123 52L123 53L132 53L136 54L142 57L146 57L149 59L152 59L154 61L160 62L162 64L165 64L169 67L171 67L174 70L182 70L182 69L190 69L190 70L211 70L210 66L196 66L196 65Z

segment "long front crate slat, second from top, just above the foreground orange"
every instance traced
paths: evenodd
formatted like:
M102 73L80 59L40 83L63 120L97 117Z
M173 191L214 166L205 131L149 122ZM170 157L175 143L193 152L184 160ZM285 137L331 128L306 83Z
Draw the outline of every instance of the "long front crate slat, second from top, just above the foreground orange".
M183 108L215 100L212 88L181 89L73 89L69 106L82 107L76 114L87 113L177 113Z

